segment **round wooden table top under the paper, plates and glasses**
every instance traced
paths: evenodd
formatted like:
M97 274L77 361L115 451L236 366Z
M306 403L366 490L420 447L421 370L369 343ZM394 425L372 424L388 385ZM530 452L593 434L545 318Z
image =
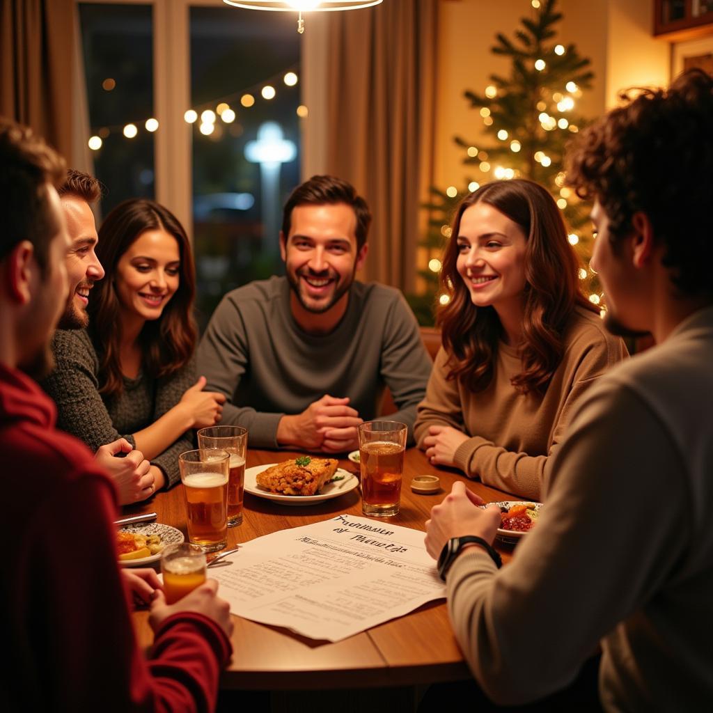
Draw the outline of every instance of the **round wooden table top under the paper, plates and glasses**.
M300 455L292 451L257 451L247 454L247 467L275 463ZM340 466L359 474L358 466L343 459ZM411 491L411 478L426 473L441 478L433 495ZM406 451L401 513L387 522L425 530L431 508L451 491L456 480L486 502L517 499L501 491L468 481L456 471L434 468L416 448ZM125 508L125 515L156 511L158 522L186 534L183 486L158 493L149 501ZM340 513L362 516L359 489L339 498L304 507L282 506L245 493L242 525L228 529L228 547L277 530L309 525ZM499 546L503 560L512 548ZM455 681L471 676L448 621L444 600L419 607L409 615L373 627L336 643L315 642L279 627L234 617L233 657L222 674L222 689L300 690L387 687ZM148 612L136 612L135 626L141 645L148 647L153 633Z

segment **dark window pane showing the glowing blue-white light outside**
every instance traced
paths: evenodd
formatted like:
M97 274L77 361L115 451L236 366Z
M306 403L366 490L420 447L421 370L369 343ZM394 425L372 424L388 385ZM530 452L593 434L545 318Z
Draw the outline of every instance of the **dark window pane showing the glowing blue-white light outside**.
M193 125L193 217L203 324L229 289L282 273L282 204L300 177L296 27L292 13L190 10L191 106L198 113ZM290 71L298 80L292 86L284 82ZM275 89L274 98L261 96L266 85ZM252 106L241 103L246 94L254 98ZM235 118L230 112L219 116L221 103ZM215 120L202 121L203 111L215 113ZM272 127L266 127L269 123ZM202 133L201 124L210 133ZM253 144L251 152L259 132L261 143ZM268 140L272 149L266 151ZM253 163L246 149L250 158L264 163ZM267 158L279 160L270 166Z

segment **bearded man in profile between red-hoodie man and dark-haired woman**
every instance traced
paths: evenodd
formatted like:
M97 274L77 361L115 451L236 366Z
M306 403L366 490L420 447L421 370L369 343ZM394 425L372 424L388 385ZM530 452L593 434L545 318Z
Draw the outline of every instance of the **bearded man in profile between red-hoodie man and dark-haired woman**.
M88 173L70 169L57 193L71 242L65 260L69 289L59 329L52 340L55 369L42 381L42 387L56 402L58 428L68 430L64 412L72 406L71 399L66 396L71 391L73 373L81 367L71 358L71 349L67 348L62 330L87 326L86 307L90 291L94 283L104 277L104 269L94 252L99 239L91 210L91 204L101 197L101 184ZM151 466L143 453L134 450L125 438L101 446L94 457L113 478L121 505L130 505L153 495L155 471L152 468L156 466Z

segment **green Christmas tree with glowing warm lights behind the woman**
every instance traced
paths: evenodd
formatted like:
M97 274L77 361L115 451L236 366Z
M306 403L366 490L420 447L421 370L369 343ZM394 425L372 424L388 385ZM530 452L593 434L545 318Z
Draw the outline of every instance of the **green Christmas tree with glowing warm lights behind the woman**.
M429 267L419 275L426 281L426 294L411 304L422 323L426 323L426 304L434 304L438 289L440 255L451 235L451 216L463 195L477 190L481 183L508 178L529 178L547 188L563 211L570 226L570 242L577 246L583 263L588 265L592 234L588 225L590 206L585 205L565 186L563 158L565 145L584 121L575 113L582 92L591 88L593 73L590 60L580 55L574 44L556 41L555 26L562 14L556 0L532 0L533 17L521 19L513 39L496 35L493 54L511 59L509 76L491 74L491 83L482 94L466 91L471 107L483 122L486 144L478 145L456 137L463 147L463 162L473 165L475 177L462 190L431 188L429 227L421 245L429 255ZM580 270L582 279L590 279L588 269ZM590 288L591 289L591 288ZM447 300L446 295L438 299ZM600 295L590 294L597 304Z

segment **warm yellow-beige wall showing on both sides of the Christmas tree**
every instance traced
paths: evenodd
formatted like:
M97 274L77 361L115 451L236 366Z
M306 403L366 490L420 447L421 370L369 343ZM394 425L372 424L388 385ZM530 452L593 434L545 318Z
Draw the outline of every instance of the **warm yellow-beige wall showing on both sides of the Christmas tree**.
M652 0L561 0L564 18L558 39L573 42L592 60L593 90L578 111L600 115L616 102L620 88L669 81L670 46L652 37ZM442 0L435 183L462 188L466 177L481 180L476 165L463 165L464 152L453 143L461 135L474 145L483 124L463 91L482 92L491 73L507 73L509 61L491 53L497 32L512 36L520 18L535 11L530 0Z

